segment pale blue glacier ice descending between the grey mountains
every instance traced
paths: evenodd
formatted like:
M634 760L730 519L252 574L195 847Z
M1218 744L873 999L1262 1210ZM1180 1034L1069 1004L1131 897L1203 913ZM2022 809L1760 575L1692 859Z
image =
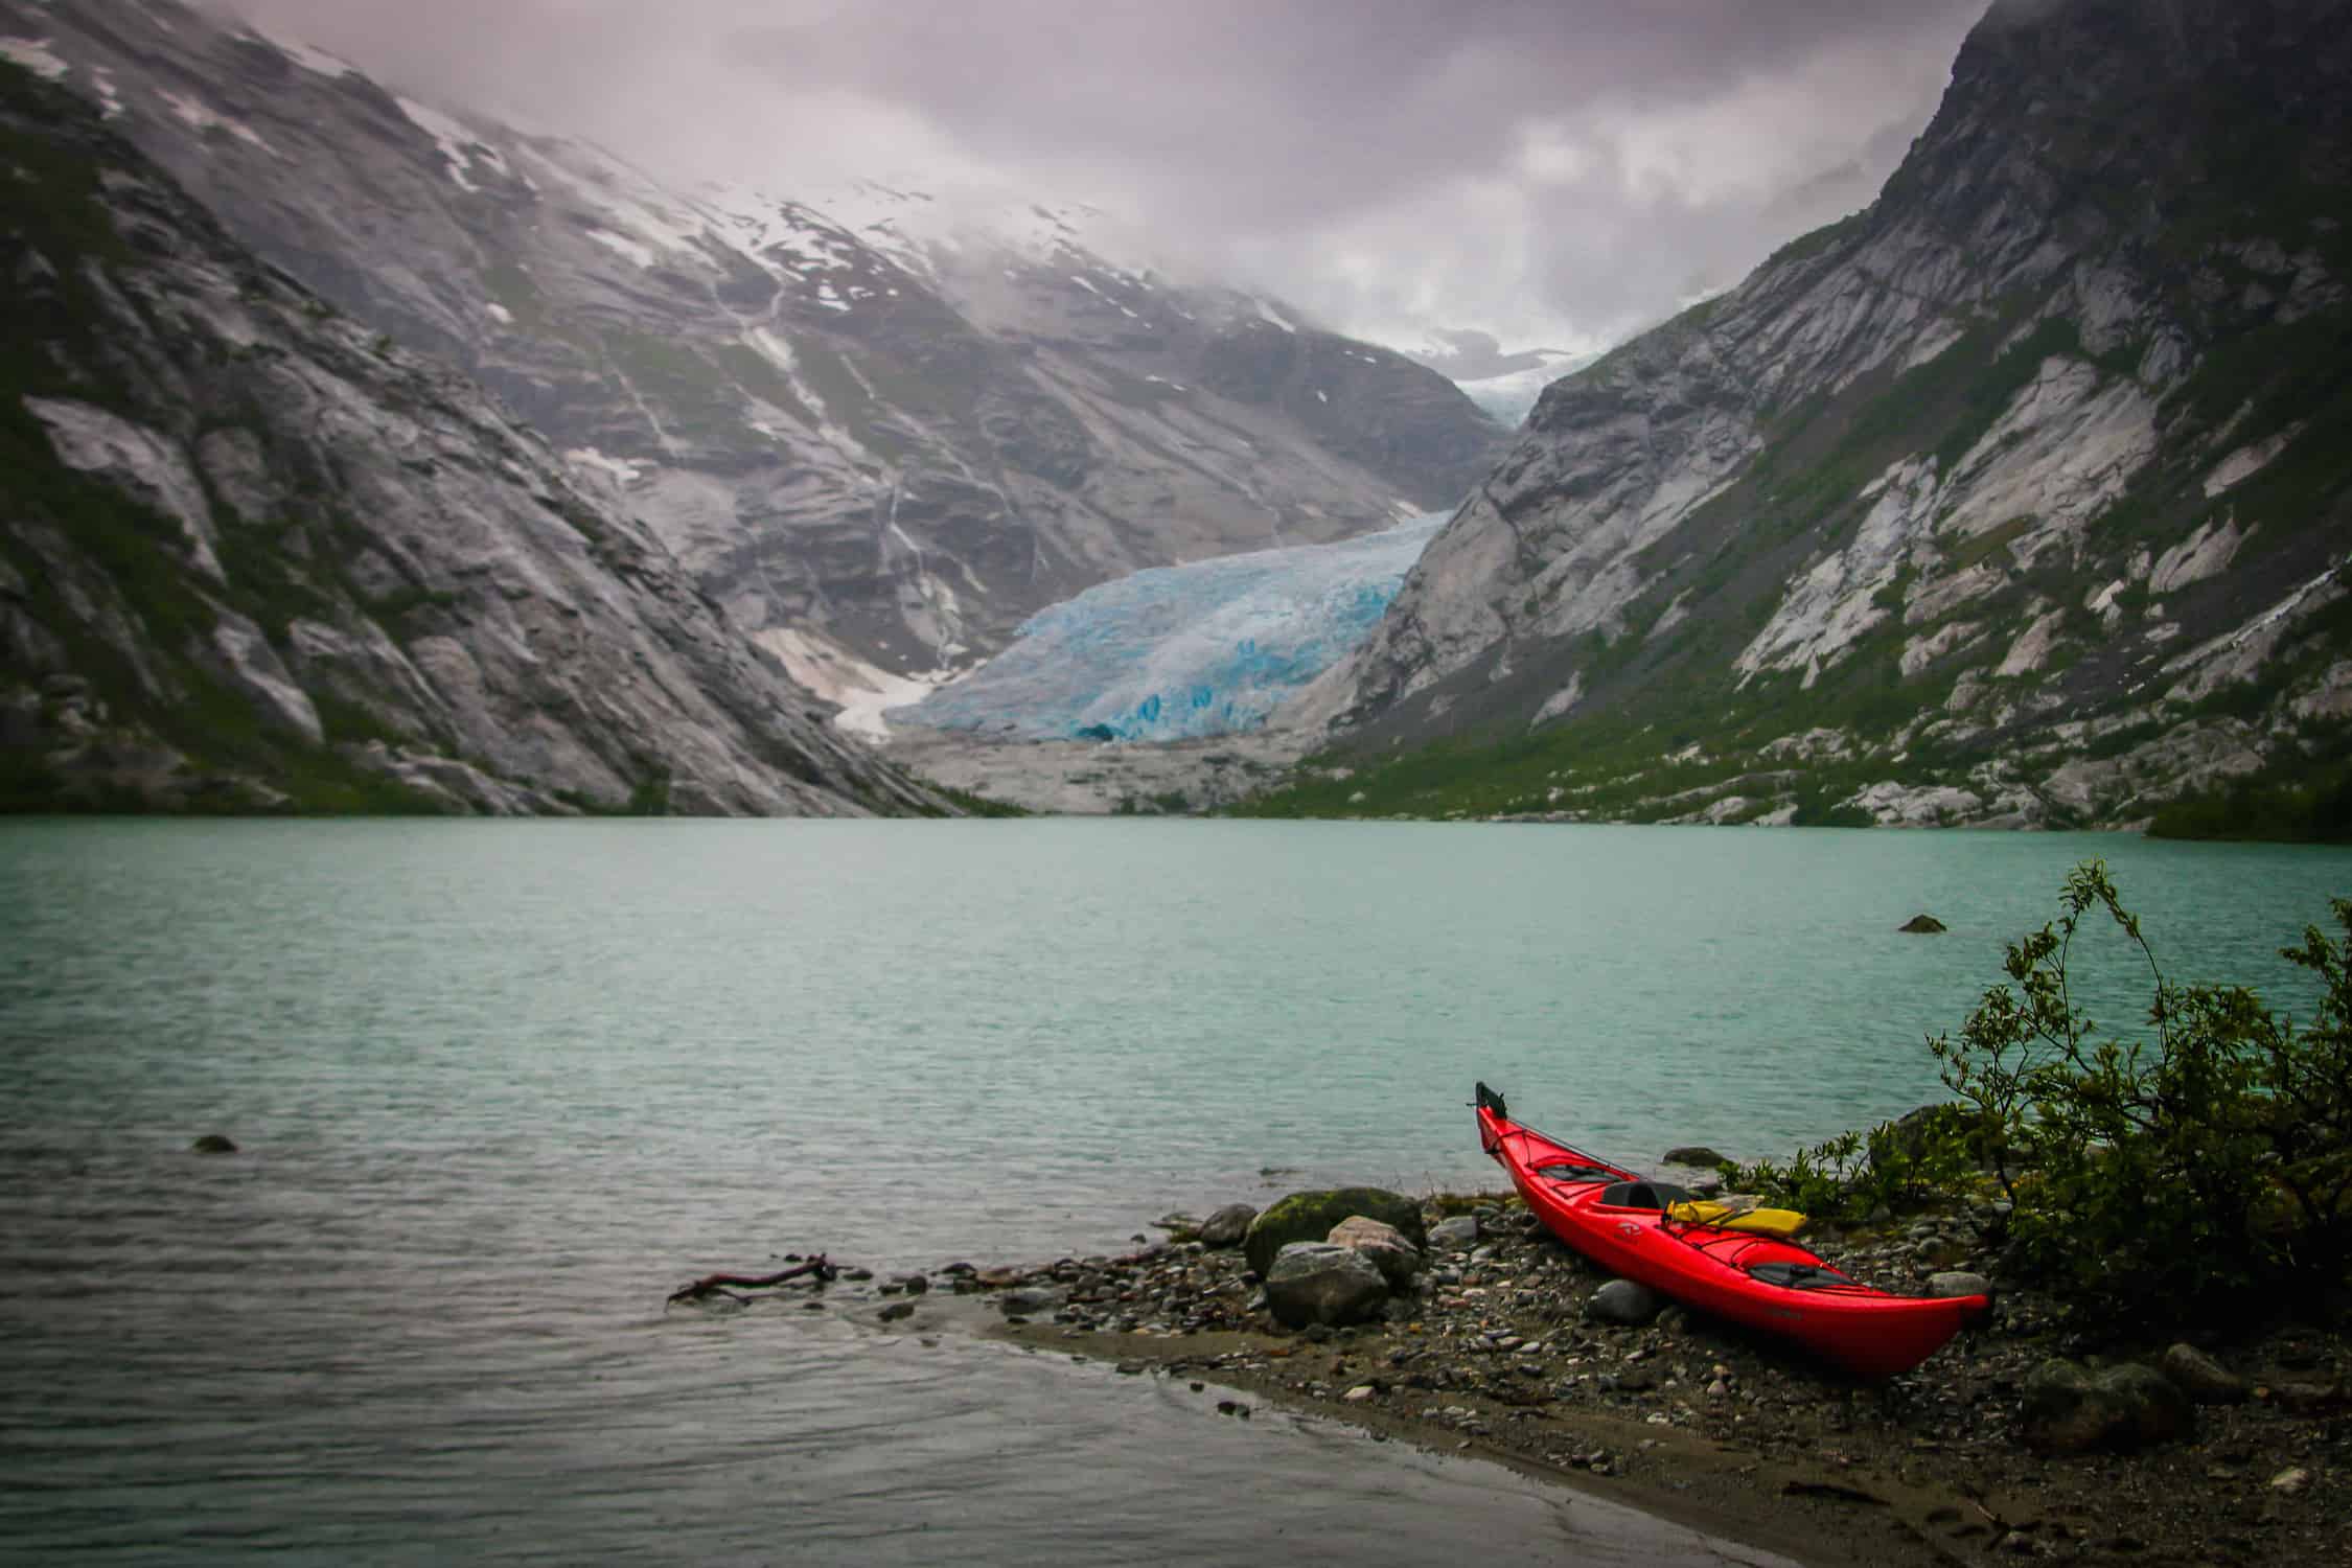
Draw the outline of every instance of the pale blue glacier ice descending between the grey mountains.
M1190 741L1265 724L1381 621L1451 512L1334 545L1152 567L1030 616L894 724L1004 741Z

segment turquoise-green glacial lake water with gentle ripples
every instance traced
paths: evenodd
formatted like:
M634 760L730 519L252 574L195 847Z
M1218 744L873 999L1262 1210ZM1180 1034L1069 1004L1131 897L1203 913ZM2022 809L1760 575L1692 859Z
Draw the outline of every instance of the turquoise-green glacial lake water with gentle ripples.
M1785 1154L1931 1098L2086 856L2171 976L2298 1011L2274 950L2352 893L2056 835L0 825L0 1554L1766 1561L870 1298L663 1295L1491 1185L1479 1077L1623 1161Z

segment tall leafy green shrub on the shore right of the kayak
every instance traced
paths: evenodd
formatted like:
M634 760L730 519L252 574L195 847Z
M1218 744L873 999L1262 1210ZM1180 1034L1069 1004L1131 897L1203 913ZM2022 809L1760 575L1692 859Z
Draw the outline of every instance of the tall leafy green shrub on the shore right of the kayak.
M2117 1039L2077 1006L2067 959L2096 912L2147 966L2152 1034ZM2326 985L2307 1027L2246 987L2164 978L2100 860L2063 912L2011 943L2009 983L1929 1048L2011 1201L2011 1260L2122 1316L2218 1307L2244 1288L2326 1295L2352 1260L2352 903L2345 940L2284 957Z

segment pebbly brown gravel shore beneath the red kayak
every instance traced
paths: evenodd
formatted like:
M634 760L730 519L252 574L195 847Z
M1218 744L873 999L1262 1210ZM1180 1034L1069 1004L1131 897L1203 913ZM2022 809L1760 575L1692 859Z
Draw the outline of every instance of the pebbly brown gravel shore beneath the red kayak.
M1251 1401L1317 1410L1809 1563L2352 1563L2352 1342L2338 1328L2199 1340L2225 1387L2187 1436L2037 1453L2020 1418L2034 1368L2152 1363L2173 1338L2110 1340L2009 1288L1983 1328L1865 1385L1679 1307L1644 1328L1588 1321L1604 1274L1517 1197L1444 1208L1475 1213L1477 1239L1432 1244L1385 1319L1350 1328L1277 1326L1240 1251L1200 1241L870 1288L898 1298L884 1321L953 1302L1030 1349L1197 1385L1235 1420ZM1971 1262L1966 1227L1933 1215L1806 1241L1896 1291Z

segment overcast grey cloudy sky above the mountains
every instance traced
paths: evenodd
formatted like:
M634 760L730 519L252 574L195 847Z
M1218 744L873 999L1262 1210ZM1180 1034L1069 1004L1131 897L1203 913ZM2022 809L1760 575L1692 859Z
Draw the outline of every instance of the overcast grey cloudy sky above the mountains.
M666 174L1087 200L1343 331L1583 350L1865 205L1985 0L235 5Z

